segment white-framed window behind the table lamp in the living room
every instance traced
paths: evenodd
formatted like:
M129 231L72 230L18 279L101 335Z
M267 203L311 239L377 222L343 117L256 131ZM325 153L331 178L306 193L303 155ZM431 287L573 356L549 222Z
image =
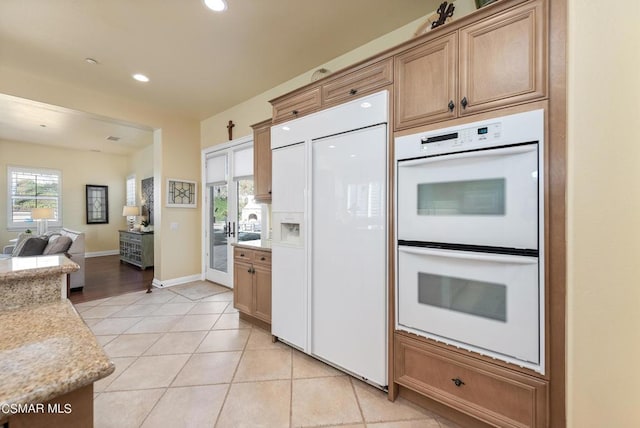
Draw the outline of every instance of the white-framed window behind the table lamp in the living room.
M7 228L35 229L33 208L53 208L49 226L62 227L62 172L55 169L7 168Z

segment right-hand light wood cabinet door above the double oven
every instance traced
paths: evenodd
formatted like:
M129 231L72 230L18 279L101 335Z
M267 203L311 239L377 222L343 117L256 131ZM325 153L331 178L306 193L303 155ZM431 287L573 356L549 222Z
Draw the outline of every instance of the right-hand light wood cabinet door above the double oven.
M460 30L460 115L546 95L545 15L537 0Z

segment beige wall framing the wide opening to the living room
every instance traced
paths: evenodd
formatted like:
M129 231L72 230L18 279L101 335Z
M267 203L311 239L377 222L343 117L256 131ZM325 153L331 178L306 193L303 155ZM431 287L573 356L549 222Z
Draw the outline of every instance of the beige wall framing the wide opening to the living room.
M74 110L139 123L156 129L154 138L155 189L160 195L168 177L200 180L200 123L177 117L161 106L114 98L62 84L28 72L0 66L0 93L58 105ZM125 167L128 165L125 161ZM128 170L123 175L129 173ZM200 206L200 205L199 205ZM184 210L164 207L164 196L156 197L155 271L160 282L201 273L200 209ZM122 211L120 211L122 213ZM162 224L160 222L162 221ZM166 223L165 223L166 222ZM171 223L178 230L168 233ZM166 227L165 227L166 226ZM166 245L164 242L166 234ZM163 248L164 247L164 248Z

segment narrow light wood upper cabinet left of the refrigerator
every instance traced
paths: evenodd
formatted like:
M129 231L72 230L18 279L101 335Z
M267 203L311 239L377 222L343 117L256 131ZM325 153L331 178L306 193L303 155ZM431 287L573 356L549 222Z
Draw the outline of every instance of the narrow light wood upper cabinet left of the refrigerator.
M258 202L271 202L271 119L253 128L253 193Z

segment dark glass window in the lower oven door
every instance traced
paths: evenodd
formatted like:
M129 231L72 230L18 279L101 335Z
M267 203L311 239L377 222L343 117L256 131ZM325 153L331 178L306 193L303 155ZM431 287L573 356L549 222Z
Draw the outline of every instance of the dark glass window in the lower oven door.
M418 302L507 321L507 287L503 284L419 272Z

